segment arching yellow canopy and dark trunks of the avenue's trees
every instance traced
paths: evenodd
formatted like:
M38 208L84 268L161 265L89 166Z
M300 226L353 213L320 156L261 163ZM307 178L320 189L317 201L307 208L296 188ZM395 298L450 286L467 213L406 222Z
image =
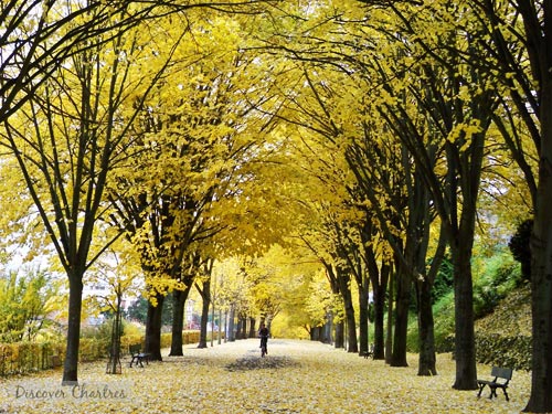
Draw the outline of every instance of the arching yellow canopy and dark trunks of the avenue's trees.
M244 320L304 301L311 336L338 306L336 341L361 353L372 291L375 354L406 365L415 290L420 374L435 374L432 288L448 250L454 388L475 389L474 246L534 215L528 410L550 410L550 7L2 6L0 167L14 173L0 198L22 193L2 226L67 275L63 381L77 380L84 275L121 245L140 265L155 354L164 296L195 285L206 309L217 284ZM294 267L304 257L315 268Z

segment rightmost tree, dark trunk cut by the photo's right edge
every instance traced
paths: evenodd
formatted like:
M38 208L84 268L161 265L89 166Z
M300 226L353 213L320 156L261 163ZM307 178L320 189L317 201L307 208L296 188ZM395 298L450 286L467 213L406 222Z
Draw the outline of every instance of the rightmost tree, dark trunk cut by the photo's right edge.
M502 87L502 112L493 120L526 177L534 223L531 236L532 382L528 412L552 411L552 62L550 1L523 0L495 4L468 2L481 15L485 35L474 36L488 56L481 68L492 73ZM480 63L479 63L480 64ZM531 142L531 144L529 144ZM534 173L532 155L537 153ZM535 176L538 178L535 179Z

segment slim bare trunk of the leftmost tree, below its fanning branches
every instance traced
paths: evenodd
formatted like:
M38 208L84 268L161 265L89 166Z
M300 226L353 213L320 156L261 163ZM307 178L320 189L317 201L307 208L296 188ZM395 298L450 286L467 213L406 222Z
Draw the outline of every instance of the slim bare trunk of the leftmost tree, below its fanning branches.
M78 371L78 346L81 340L81 311L83 308L83 275L70 275L67 351L63 364L63 385L74 385Z

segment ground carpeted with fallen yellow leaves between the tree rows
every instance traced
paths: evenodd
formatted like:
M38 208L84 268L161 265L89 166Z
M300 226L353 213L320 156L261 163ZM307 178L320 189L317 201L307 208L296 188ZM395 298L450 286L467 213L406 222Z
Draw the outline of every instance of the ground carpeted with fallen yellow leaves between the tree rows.
M519 413L529 399L530 374L514 372L510 402L454 391L455 364L438 357L439 375L359 358L330 346L270 340L262 359L257 340L184 348L120 375L105 362L82 364L79 388L61 386L61 371L0 380L0 413ZM489 367L478 367L479 378Z

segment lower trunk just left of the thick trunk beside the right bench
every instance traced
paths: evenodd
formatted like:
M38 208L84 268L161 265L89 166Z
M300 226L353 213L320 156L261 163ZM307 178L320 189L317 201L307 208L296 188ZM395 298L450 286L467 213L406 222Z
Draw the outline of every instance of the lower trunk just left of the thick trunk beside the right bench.
M432 287L428 280L417 282L417 322L420 336L418 375L437 375Z

